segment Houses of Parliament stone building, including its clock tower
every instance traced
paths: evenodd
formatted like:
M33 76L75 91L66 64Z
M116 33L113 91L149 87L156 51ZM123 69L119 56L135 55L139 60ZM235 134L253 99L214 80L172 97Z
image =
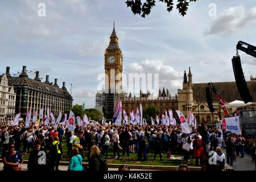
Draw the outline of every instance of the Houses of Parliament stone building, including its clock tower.
M112 34L110 35L110 42L108 48L105 50L105 73L108 75L105 78L105 86L108 88L104 91L98 91L96 94L96 109L104 113L107 119L112 119L115 109L115 103L122 100L122 108L126 110L127 115L131 110L136 110L141 103L143 109L149 105L156 106L160 114L164 114L165 110L171 109L174 113L174 117L177 120L175 110L180 110L185 116L188 117L189 111L192 111L194 117L197 119L197 123L204 122L206 125L212 125L213 121L220 121L224 117L224 112L217 100L217 97L213 94L213 107L215 109L212 117L210 113L205 88L208 87L208 83L194 84L192 81L192 71L189 67L188 75L184 71L183 86L177 90L175 96L171 96L168 88L159 90L158 97L153 98L151 93L140 92L139 97L133 96L131 93L116 93L110 92L114 89L114 85L122 85L122 79L117 78L119 73L123 70L123 55L121 48L118 45L118 37L113 27ZM111 70L114 70L114 76L111 75ZM237 89L236 82L214 82L214 86L222 94L226 102L232 102L234 100L242 100ZM110 86L109 86L110 85ZM171 86L171 85L170 85ZM247 81L247 86L255 101L256 98L256 80L251 76L250 81ZM168 85L167 85L168 87ZM122 88L122 86L121 86ZM229 112L232 113L236 108L229 107Z

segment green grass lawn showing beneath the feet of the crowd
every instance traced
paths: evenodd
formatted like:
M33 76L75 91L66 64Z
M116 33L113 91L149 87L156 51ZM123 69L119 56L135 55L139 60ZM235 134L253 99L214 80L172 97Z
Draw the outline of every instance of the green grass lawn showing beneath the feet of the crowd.
M61 161L65 162L68 161L68 156L67 156L67 138L63 139L63 158ZM22 151L22 150L21 150ZM48 152L48 151L47 151ZM120 153L122 156L122 152ZM174 157L183 157L183 154L173 154ZM85 151L84 155L84 162L87 161L87 151ZM29 154L23 155L24 160L28 160ZM149 165L149 166L179 166L180 164L183 164L183 159L182 160L177 160L177 159L168 159L167 154L162 155L162 159L160 160L159 155L156 155L156 160L154 160L154 154L149 153L147 154L147 161L138 161L137 160L138 155L137 153L130 153L130 156L122 156L122 159L114 159L113 155L113 147L110 146L109 148L109 158L106 159L109 164L137 164L137 165ZM142 156L143 159L143 156ZM195 166L195 160L191 159L190 160L190 165L189 166Z

